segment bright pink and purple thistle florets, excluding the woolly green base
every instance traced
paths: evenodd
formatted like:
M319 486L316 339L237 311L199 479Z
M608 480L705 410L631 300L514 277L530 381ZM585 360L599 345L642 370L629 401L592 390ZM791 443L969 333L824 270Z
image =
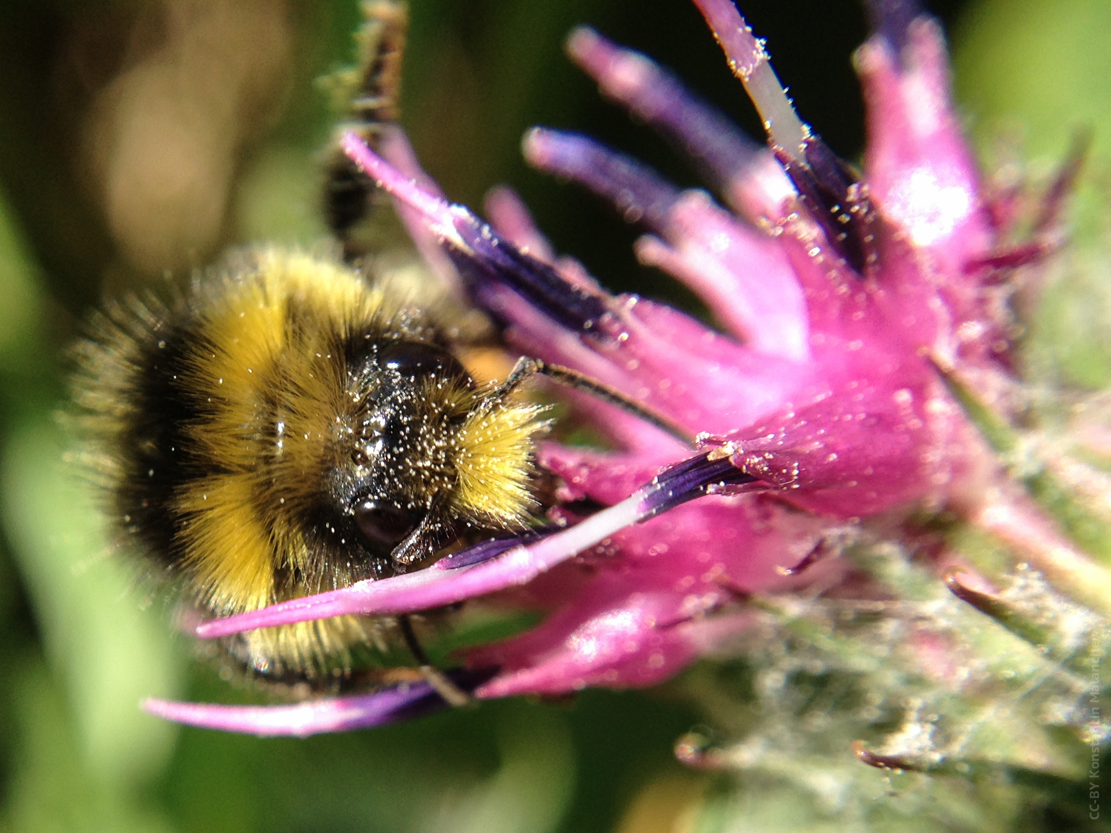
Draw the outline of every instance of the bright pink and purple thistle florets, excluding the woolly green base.
M610 295L551 254L507 191L488 202L491 225L448 203L403 138L387 145L390 162L347 140L433 265L503 324L513 349L618 389L697 438L695 448L575 395L618 450L542 446L540 464L563 481L558 531L208 622L201 636L492 596L549 613L449 672L474 696L651 685L745 629L748 594L832 586L847 573L837 559L784 568L835 550L861 524L899 528L941 506L1078 592L1105 593L1102 573L1014 494L952 393L959 384L1008 408L1010 319L997 271L1034 249L995 248L938 24L909 19L902 3L877 4L879 33L857 56L869 132L861 174L798 119L733 4L695 2L768 126L769 149L641 54L587 29L569 50L607 96L689 155L728 207L583 137L537 129L524 152L641 224L640 259L697 292L720 331ZM421 683L296 706L148 707L198 725L309 734L441 705Z

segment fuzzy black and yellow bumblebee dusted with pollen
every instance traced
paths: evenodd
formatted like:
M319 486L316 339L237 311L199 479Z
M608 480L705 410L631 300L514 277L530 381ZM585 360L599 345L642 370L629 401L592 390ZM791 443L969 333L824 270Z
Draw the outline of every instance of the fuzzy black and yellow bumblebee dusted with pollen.
M352 112L373 139L396 118L406 16L366 12ZM476 381L444 303L366 273L354 230L370 188L332 158L342 258L233 254L172 301L109 304L77 348L86 456L119 538L204 614L417 569L534 509L543 409L517 401L517 381ZM393 628L346 616L226 648L266 679L327 682Z

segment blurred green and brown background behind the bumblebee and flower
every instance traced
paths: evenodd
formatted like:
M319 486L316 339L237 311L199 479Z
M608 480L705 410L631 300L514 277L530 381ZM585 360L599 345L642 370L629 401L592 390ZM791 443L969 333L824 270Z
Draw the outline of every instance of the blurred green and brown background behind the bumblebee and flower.
M743 8L803 118L858 157L860 6ZM957 44L960 94L985 147L1003 136L1052 160L1073 127L1095 128L1080 221L1098 237L1111 4L933 10ZM144 599L106 552L89 495L62 462L66 345L106 292L188 273L236 243L320 240L319 151L332 116L314 79L351 60L358 21L354 0L0 4L0 831L732 830L698 813L721 784L672 756L700 721L683 680L309 741L178 729L138 710L148 695L233 695L171 636L168 605ZM413 0L404 123L452 199L480 205L490 185L511 183L557 248L603 283L687 304L637 265L631 229L519 160L521 133L550 124L695 184L564 60L578 22L655 56L759 129L685 0ZM1105 293L1103 271L1084 291ZM1105 321L1078 322L1069 298L1049 299L1061 312L1047 338L1082 381L1104 384Z

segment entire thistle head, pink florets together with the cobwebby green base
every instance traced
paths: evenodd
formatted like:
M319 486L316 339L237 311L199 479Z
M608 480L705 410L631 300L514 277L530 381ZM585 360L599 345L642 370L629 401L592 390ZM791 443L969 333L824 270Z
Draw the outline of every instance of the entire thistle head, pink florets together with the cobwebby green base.
M640 225L638 257L698 293L720 331L607 293L554 255L511 192L491 194L491 224L451 204L400 132L386 137L384 158L344 138L430 267L486 310L512 349L615 389L693 444L572 395L614 450L541 448L538 462L562 483L553 526L206 622L198 634L490 596L548 615L468 650L466 668L446 672L478 699L650 685L700 656L743 655L758 678L779 682L721 702L737 713L761 702L788 716L768 724L764 751L691 746L692 762L774 769L767 750L797 743L774 727L798 730L790 715L809 707L792 705L783 681L819 668L853 702L871 703L845 725L901 726L885 746L854 747L865 763L1069 773L1074 751L1045 725L1083 722L1083 662L1104 644L1111 573L1037 498L1053 495L1047 505L1068 505L1070 518L1088 504L1065 501L1045 474L1018 480L1007 456L1018 443L1000 440L1022 400L1005 270L1050 249L1040 238L1011 241L995 222L953 112L934 21L908 13L909 3L874 4L879 33L857 53L869 131L861 174L794 114L732 2L695 2L770 124L770 148L643 56L588 29L568 48L607 96L688 155L728 208L585 137L536 129L524 153ZM1048 205L1059 205L1059 191ZM1009 548L1012 568L972 570L953 543L952 530L965 526ZM999 699L1008 699L1002 714ZM148 707L197 725L311 734L444 705L431 683L411 683L298 706ZM713 716L730 724L731 713ZM828 736L843 749L854 740Z

